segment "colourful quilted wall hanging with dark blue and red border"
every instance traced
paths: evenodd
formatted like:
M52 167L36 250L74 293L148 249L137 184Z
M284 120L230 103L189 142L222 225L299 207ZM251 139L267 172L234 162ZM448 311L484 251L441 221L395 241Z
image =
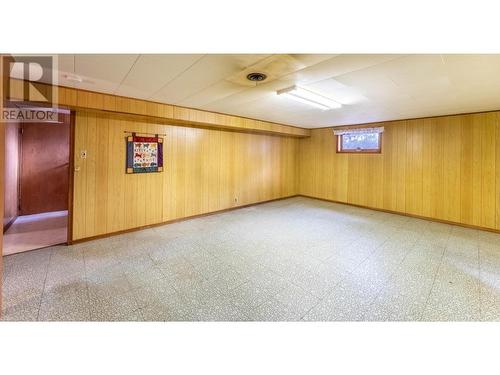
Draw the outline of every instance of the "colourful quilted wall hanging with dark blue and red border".
M127 137L127 173L163 172L163 138Z

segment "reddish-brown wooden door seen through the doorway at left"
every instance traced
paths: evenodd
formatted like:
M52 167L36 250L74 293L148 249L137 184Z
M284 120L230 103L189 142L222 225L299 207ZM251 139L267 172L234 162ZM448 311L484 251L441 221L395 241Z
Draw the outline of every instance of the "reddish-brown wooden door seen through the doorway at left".
M68 209L69 137L69 116L60 124L22 124L20 215Z

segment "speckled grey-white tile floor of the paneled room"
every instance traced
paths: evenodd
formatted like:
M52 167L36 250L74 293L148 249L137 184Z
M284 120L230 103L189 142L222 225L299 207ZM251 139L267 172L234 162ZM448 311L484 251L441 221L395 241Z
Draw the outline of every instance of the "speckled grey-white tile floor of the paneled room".
M500 320L500 235L307 198L4 265L4 320Z

